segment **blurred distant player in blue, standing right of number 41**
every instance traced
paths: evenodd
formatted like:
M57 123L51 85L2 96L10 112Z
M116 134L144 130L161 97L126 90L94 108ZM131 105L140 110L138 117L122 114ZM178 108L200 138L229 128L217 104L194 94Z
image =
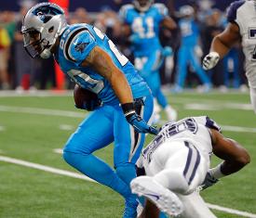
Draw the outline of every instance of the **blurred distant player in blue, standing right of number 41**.
M179 20L179 27L181 29L182 42L178 51L178 71L173 90L175 93L182 92L188 64L203 83L203 91L208 92L211 88L209 77L201 68L199 61L199 58L202 56L202 50L199 47L199 27L195 22L194 13L195 11L192 6L187 5L180 8L182 19Z

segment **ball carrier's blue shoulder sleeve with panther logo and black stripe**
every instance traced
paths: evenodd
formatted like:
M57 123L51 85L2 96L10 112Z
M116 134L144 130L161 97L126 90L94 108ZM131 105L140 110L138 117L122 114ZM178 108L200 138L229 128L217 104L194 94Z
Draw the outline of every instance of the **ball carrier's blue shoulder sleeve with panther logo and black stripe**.
M66 59L80 64L88 57L96 45L96 39L86 26L80 26L70 32L63 46Z

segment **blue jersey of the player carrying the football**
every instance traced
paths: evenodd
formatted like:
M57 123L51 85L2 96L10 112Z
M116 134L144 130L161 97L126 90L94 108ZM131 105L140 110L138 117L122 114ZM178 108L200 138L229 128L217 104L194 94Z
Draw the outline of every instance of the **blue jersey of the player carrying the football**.
M99 29L81 23L69 25L61 35L59 51L55 58L75 83L97 94L103 103L118 102L111 84L91 67L82 67L90 51L99 46L112 58L115 66L122 71L130 85L134 98L149 94L149 88L133 65L121 54L114 43Z

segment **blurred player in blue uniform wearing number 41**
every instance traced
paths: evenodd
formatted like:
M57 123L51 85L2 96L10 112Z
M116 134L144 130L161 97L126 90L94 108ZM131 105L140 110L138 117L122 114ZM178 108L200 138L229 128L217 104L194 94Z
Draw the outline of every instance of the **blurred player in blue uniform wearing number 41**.
M176 23L168 17L168 9L163 4L154 4L153 0L134 0L133 4L122 6L120 18L126 24L124 32L130 35L135 58L135 67L148 83L157 103L167 113L169 121L177 119L177 112L168 105L161 91L159 62L166 52L159 41L160 25L173 30Z

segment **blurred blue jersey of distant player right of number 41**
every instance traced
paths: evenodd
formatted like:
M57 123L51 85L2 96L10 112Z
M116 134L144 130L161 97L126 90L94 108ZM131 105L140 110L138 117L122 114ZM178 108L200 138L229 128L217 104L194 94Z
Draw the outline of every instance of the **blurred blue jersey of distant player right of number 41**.
M195 46L198 44L199 29L195 19L181 19L179 26L182 33L182 45Z

